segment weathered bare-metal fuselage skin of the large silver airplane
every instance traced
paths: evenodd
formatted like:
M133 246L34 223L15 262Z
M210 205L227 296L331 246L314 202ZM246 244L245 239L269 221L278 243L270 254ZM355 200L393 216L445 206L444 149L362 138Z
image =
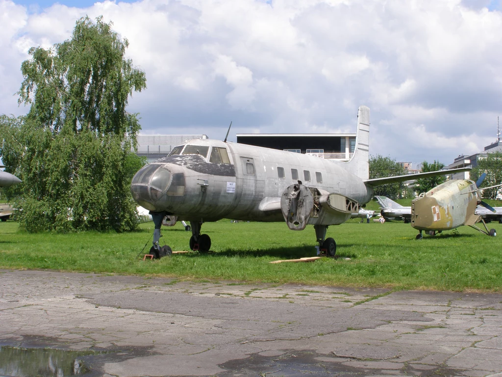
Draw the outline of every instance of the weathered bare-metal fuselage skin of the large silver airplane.
M205 222L222 218L284 221L280 207L264 211L260 209L260 203L265 198L279 202L286 188L298 182L292 179L291 169L297 169L298 178L304 185L321 192L339 193L361 204L367 203L372 195L371 188L341 167L339 162L219 140L191 140L187 145L208 146L209 150L212 147L226 148L230 164L211 163L209 157L200 155L176 155L146 165L136 173L131 185L131 192L139 205L152 212L165 211L185 221ZM246 171L249 163L253 164L254 175ZM279 177L278 167L284 169L284 178ZM165 187L155 187L154 184L156 174L162 171L160 169L171 174ZM305 181L304 170L309 171L310 181ZM317 182L316 172L321 174L322 182ZM183 175L182 195L169 194L175 174ZM181 189L177 193L180 194Z

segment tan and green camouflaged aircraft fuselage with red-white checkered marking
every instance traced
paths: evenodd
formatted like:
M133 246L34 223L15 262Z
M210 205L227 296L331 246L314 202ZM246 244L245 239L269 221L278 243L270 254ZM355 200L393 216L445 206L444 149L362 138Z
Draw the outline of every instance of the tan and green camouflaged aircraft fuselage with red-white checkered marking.
M470 179L453 179L441 183L429 190L427 193L422 193L420 196L411 202L411 226L418 229L417 239L422 238L422 231L428 231L430 235L435 235L436 232L441 233L443 230L451 230L462 225L470 226L481 233L495 237L495 229L486 227L484 220L476 214L476 207L481 205L491 212L495 210L481 200L478 189L483 181L486 173L474 182ZM496 185L497 187L500 185ZM484 225L482 230L475 226L478 221Z

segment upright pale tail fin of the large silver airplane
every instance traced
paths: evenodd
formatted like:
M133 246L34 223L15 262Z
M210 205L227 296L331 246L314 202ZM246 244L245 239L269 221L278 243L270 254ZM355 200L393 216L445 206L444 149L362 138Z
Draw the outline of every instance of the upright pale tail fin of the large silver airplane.
M369 108L359 106L357 111L357 133L355 136L355 150L352 158L347 162L348 169L361 179L369 178Z

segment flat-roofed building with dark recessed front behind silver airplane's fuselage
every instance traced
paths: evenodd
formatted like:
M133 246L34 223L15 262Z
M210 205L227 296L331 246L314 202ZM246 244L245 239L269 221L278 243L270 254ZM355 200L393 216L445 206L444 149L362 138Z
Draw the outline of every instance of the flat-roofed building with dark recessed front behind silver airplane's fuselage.
M237 134L237 143L349 160L355 134Z

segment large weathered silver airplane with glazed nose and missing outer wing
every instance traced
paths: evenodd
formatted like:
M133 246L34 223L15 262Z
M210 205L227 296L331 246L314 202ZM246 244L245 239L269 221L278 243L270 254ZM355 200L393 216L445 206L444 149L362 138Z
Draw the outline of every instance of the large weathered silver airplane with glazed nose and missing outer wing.
M264 222L286 221L292 230L314 226L322 251L334 256L336 243L326 238L367 203L373 186L409 180L409 175L368 179L369 109L359 107L356 148L349 161L210 139L194 139L173 148L169 156L142 167L133 177L134 200L152 214L155 230L150 250L159 246L166 216L189 221L190 249L208 251L211 239L201 234L204 222L223 218ZM228 133L227 133L228 135ZM434 171L414 177L466 171Z

